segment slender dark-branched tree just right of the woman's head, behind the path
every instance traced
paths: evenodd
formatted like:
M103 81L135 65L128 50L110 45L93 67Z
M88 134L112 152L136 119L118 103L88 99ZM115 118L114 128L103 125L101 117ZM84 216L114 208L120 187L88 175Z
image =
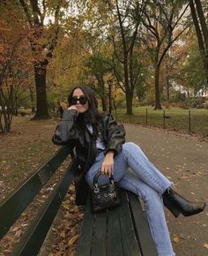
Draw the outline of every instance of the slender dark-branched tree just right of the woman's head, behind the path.
M145 2L116 0L114 5L108 1L109 10L115 13L117 22L116 26L111 26L109 36L114 46L113 68L117 84L120 85L126 96L128 115L133 114L132 101L139 72L135 49L138 46L137 34ZM135 18L136 16L138 19ZM119 66L122 69L119 69Z

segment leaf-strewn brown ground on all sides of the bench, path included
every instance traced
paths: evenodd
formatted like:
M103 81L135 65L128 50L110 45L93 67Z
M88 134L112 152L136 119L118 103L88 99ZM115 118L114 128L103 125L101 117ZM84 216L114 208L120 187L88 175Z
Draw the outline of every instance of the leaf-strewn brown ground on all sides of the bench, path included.
M56 152L58 147L51 143L55 127L56 120L40 122L30 121L29 117L15 117L11 133L0 135L1 201ZM127 140L136 142L144 149L151 161L175 183L178 192L189 200L205 200L208 203L208 139L132 124L125 124L125 128ZM71 246L70 255L73 255L83 216L83 210L75 207L73 200L71 188L63 203L62 222L56 223L50 238L53 245L43 251L42 256L49 253L51 256L69 255L64 250L69 250ZM208 207L202 214L189 218L180 216L175 219L167 210L166 214L177 256L208 255ZM15 227L11 234L18 237L20 227ZM4 243L1 241L0 256L10 252L12 238L4 238Z

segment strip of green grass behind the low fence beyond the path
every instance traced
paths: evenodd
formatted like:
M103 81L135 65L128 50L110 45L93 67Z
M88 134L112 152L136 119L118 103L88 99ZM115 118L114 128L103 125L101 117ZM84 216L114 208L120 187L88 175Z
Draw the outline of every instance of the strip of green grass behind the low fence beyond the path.
M175 131L198 133L208 136L208 109L160 109L152 107L133 108L134 115L126 115L126 109L113 111L114 117L119 121L152 125ZM189 116L190 113L190 116ZM165 114L165 118L164 118Z

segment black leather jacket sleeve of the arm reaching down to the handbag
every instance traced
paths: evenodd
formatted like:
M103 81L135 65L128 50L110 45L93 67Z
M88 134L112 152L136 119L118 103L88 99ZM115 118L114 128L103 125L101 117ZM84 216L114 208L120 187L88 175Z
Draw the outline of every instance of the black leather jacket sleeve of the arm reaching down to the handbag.
M125 130L123 124L117 124L115 119L112 116L107 116L107 130L108 130L108 140L106 153L109 150L113 150L115 154L122 148L123 143L125 142Z

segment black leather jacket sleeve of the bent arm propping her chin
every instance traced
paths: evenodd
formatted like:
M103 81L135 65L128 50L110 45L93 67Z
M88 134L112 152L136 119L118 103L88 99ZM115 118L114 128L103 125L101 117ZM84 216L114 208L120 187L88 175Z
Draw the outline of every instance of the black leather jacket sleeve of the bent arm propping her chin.
M78 116L76 109L65 109L63 111L63 119L57 124L55 134L52 141L58 146L63 146L69 140L78 139L78 129L75 120Z

